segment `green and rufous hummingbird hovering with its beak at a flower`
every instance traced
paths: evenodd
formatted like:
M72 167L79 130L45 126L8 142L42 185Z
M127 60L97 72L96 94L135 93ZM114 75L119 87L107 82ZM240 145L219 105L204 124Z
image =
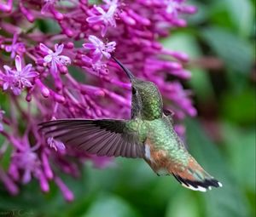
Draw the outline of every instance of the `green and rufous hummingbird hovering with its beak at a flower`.
M195 161L174 131L172 113L164 110L157 86L135 77L112 58L131 81L131 119L53 120L39 124L44 136L97 156L143 158L154 173L172 174L194 191L222 186Z

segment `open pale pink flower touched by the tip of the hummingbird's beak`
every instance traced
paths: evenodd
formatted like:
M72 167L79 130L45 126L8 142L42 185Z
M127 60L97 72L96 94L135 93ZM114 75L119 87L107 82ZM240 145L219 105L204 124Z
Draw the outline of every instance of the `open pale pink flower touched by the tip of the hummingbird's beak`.
M93 62L96 63L99 60L102 60L102 56L105 56L106 58L110 58L111 52L115 49L115 42L110 43L103 43L99 38L96 36L89 36L89 41L91 43L84 43L84 49L90 49L93 50Z

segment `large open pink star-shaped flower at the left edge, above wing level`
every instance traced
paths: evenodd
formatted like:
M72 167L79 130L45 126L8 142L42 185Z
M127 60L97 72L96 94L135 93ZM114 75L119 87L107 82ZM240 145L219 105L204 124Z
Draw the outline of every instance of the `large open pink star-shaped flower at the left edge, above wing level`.
M5 74L0 73L0 80L3 80L3 90L11 89L15 95L19 95L24 88L31 88L30 79L38 76L38 72L31 71L32 64L21 66L20 56L15 57L16 70L12 70L9 66L3 66Z

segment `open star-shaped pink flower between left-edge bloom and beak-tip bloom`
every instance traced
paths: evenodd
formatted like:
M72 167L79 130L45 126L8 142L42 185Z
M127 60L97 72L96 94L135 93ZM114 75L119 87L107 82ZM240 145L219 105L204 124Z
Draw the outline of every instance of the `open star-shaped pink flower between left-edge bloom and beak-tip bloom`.
M47 54L44 56L44 62L50 65L50 71L52 73L57 73L58 66L67 66L71 63L69 57L65 55L60 55L63 48L64 44L55 44L55 52L53 52L51 49L47 48L44 43L40 43L40 49L44 52L44 54Z

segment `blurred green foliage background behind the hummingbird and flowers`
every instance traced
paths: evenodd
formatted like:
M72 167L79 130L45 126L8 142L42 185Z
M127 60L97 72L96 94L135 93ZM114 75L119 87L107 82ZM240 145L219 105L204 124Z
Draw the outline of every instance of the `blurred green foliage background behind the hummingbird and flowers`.
M0 188L0 216L242 217L255 216L255 2L197 0L189 27L162 41L188 53L199 116L186 120L189 151L224 187L189 191L172 177L158 177L142 160L118 158L108 168L85 164L80 180L63 177L75 193L66 203L38 183L17 197ZM21 210L21 211L19 211Z

